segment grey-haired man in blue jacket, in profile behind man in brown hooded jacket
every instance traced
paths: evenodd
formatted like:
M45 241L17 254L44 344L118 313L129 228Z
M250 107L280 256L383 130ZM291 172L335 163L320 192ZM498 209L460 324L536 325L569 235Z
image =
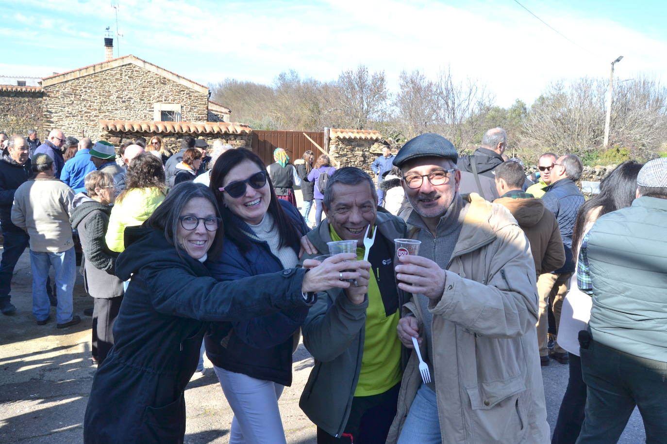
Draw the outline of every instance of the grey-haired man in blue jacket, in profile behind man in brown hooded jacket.
M558 270L542 270L538 279L538 293L542 300L551 304L556 318L556 336L560 324L560 309L565 295L570 290L570 278L574 272L572 258L572 232L577 219L579 207L584 203L584 194L575 183L582 175L584 165L576 154L565 154L554 162L551 170L551 184L545 188L542 202L547 210L556 216L560 237L565 247L565 265ZM554 344L549 357L564 364L568 363L568 353L558 343Z

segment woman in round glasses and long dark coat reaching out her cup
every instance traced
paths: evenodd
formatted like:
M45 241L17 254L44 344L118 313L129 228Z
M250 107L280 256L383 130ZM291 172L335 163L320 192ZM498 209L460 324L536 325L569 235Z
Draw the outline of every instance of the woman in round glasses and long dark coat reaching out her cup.
M115 345L93 379L85 443L182 443L183 390L209 322L229 330L231 320L307 310L313 292L346 288L340 276L360 276L342 272L354 262L340 262L218 282L203 262L219 253L220 228L215 196L193 182L175 186L142 226L127 228L116 274L123 280L132 275L132 282L116 320Z

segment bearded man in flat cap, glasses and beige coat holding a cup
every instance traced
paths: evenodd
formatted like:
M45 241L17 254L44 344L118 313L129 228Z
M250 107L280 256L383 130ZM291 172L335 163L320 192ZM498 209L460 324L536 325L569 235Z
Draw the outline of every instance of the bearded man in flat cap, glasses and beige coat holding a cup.
M535 323L538 295L528 240L500 204L459 192L454 145L422 134L398 152L413 210L408 233L418 256L396 265L412 294L398 335L418 338L424 383L412 353L388 443L546 443Z

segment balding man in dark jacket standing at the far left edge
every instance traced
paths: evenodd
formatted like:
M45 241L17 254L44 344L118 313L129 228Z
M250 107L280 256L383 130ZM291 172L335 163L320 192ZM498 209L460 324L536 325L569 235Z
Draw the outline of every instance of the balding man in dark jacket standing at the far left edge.
M11 222L11 205L14 192L32 175L29 147L25 139L15 136L0 158L0 226L4 240L0 262L0 311L5 315L16 312L10 302L11 276L23 250L28 246L28 234Z

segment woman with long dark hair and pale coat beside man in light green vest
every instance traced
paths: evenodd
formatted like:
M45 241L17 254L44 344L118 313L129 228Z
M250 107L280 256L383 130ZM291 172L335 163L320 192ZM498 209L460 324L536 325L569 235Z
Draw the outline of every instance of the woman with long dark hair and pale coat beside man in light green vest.
M586 200L579 208L572 233L574 258L578 257L584 235L600 216L632 204L636 196L637 175L642 165L634 160L628 160L614 168L600 182L600 194ZM588 328L591 306L590 296L581 292L577 286L575 273L570 282L570 291L563 301L558 326L558 345L566 349L569 355L570 379L558 411L552 444L576 442L584 423L586 384L582 379L578 333Z

